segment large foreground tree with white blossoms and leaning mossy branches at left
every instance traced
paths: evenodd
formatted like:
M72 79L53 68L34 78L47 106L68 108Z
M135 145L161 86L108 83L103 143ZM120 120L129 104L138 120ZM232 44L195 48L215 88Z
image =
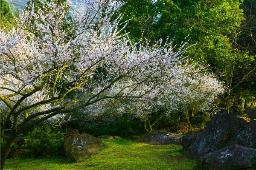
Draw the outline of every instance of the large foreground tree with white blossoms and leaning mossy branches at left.
M186 43L173 51L172 43L143 46L120 34L114 1L40 3L0 30L1 169L29 127L106 99L151 98L186 62Z

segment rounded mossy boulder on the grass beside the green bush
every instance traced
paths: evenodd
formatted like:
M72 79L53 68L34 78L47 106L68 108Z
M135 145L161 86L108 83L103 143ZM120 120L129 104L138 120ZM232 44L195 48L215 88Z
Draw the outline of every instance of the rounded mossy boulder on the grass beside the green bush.
M64 150L68 161L81 161L101 150L105 144L101 139L89 134L74 134L64 143Z

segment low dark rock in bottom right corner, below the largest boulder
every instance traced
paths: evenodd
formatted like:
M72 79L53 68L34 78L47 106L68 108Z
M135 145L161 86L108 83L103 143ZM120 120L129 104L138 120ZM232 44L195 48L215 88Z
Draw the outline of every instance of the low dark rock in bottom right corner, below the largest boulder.
M201 157L198 165L208 170L236 170L256 163L256 149L235 144Z

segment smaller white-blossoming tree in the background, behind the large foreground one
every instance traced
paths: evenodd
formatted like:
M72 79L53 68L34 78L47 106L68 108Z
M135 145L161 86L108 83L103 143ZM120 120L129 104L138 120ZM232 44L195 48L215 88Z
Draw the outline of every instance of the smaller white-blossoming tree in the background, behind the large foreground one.
M121 86L116 85L115 88ZM144 85L143 88L148 87ZM148 131L154 130L163 117L183 111L193 133L189 110L201 111L208 116L218 113L219 96L224 94L224 89L223 83L207 67L183 63L165 71L161 82L145 97L99 101L81 109L80 116L84 114L97 119L104 116L109 118L109 113L129 113L133 118L143 120ZM139 93L140 90L137 88L134 92Z

